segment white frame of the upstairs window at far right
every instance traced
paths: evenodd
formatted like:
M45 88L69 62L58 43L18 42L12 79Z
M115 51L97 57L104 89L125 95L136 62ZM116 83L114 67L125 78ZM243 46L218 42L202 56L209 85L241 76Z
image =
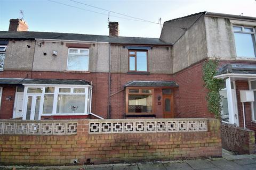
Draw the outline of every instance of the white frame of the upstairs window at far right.
M234 27L241 27L242 28L242 31L237 31L237 30L234 30ZM244 31L244 28L250 28L250 29L253 29L253 32L248 32L248 31ZM238 32L238 33L247 33L247 34L251 34L251 35L254 35L254 57L248 57L248 56L237 56L236 54L236 58L239 58L239 59L248 59L248 60L256 60L256 31L255 31L255 26L253 25L248 25L248 26L244 26L244 25L239 25L239 24L232 24L232 30L233 30L233 33L235 32ZM234 38L235 38L235 34L234 34ZM235 42L234 42L235 43ZM236 48L236 44L235 44L235 48Z

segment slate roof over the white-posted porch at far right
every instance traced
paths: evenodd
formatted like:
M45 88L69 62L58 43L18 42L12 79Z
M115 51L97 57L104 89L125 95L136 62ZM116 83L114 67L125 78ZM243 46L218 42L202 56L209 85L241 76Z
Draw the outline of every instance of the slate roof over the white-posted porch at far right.
M256 65L254 64L225 64L218 70L218 74L256 74Z

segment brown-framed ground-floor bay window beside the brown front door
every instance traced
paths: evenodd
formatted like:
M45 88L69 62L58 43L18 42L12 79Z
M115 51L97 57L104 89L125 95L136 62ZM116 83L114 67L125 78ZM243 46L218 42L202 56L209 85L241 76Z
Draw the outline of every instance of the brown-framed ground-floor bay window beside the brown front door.
M154 89L126 90L126 114L152 114Z

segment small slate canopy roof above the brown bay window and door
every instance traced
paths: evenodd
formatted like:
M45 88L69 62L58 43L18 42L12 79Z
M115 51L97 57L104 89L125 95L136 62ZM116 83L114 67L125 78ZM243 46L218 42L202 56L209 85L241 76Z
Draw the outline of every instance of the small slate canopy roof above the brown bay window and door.
M130 81L124 87L179 87L175 81Z

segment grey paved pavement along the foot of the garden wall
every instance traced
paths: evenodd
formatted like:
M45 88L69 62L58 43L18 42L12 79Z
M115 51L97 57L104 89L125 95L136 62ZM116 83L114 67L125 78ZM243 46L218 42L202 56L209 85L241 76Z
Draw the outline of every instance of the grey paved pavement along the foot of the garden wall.
M167 162L144 162L127 164L102 164L102 165L83 165L83 166L0 166L0 169L20 169L20 170L255 170L256 155L232 155L226 150L222 150L222 158L210 159L190 159L173 160Z

